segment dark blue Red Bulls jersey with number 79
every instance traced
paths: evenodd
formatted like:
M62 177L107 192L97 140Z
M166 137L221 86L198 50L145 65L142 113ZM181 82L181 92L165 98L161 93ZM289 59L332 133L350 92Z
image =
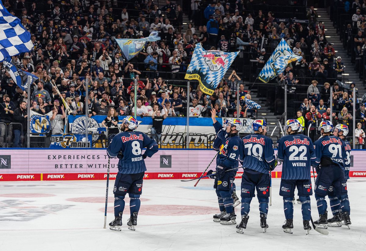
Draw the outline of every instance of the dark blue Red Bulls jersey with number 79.
M254 133L242 138L243 152L240 163L243 167L268 174L269 166L275 164L273 141L262 134Z

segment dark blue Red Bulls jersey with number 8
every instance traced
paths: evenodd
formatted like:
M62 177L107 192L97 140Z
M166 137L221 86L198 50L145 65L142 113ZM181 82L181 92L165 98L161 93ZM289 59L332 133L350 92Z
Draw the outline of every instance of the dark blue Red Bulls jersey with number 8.
M143 148L146 148L145 153L142 153ZM121 174L138 174L146 171L142 155L151 157L157 151L158 145L155 140L149 138L145 133L121 132L113 137L107 148L107 155L114 158L121 152L123 158L118 162L118 172Z

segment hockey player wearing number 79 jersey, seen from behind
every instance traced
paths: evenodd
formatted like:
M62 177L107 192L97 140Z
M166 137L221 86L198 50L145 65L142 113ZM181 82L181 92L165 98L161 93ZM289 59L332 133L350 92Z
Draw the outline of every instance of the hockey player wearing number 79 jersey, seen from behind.
M247 227L250 202L255 196L255 189L257 189L259 201L261 228L263 232L266 232L270 187L269 170L273 170L277 164L272 147L273 141L265 136L268 131L266 121L263 119L254 120L252 129L254 134L242 138L243 152L240 159L244 168L241 187L242 221L236 226L238 233L244 233L244 229Z

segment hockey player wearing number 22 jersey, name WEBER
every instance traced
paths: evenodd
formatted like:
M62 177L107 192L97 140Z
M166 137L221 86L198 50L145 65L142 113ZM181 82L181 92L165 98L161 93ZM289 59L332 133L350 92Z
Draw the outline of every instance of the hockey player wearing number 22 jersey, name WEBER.
M280 195L283 197L283 209L286 223L283 231L292 233L295 188L297 187L300 198L303 226L306 234L311 230L309 221L311 216L310 195L313 194L310 180L310 166L315 164L315 151L313 142L304 134L301 134L301 125L297 119L288 119L285 122L284 131L287 136L277 142L277 159L282 161L282 175Z

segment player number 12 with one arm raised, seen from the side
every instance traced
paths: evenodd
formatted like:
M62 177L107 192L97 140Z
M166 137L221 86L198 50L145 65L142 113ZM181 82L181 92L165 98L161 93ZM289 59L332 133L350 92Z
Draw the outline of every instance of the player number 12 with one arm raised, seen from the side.
M228 119L226 130L222 130L222 132L226 133L222 133L222 135L220 132L218 133L218 138L225 136L226 134L227 136L221 138L223 142L220 146L219 154L217 155L216 172L213 172L212 170L208 171L208 174L216 173L213 177L215 178L213 187L216 189L216 194L219 199L220 213L214 215L214 221L220 222L223 225L236 224L234 199L231 195L231 189L237 169L231 171L227 170L239 167L239 155L242 142L238 133L242 129L242 126L240 120Z

